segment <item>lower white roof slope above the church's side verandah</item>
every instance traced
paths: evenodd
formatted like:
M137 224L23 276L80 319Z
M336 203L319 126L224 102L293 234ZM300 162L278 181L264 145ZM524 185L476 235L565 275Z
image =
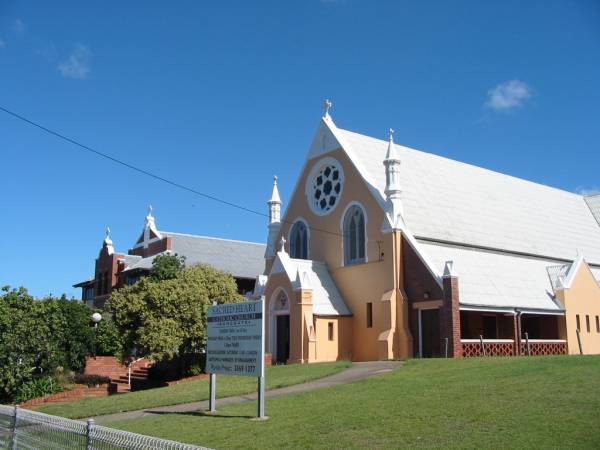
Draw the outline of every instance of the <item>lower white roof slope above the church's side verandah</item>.
M547 270L556 266L556 261L431 242L421 242L421 248L440 271L446 261L454 261L461 305L563 309L553 300Z

